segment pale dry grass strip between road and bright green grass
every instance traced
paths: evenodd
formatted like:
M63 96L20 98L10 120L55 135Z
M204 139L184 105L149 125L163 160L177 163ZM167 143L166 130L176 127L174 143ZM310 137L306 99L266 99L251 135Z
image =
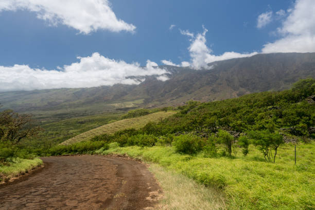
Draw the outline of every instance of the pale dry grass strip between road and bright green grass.
M163 189L164 196L155 209L160 210L215 210L226 209L223 194L211 187L205 187L183 174L167 170L158 164L150 164Z

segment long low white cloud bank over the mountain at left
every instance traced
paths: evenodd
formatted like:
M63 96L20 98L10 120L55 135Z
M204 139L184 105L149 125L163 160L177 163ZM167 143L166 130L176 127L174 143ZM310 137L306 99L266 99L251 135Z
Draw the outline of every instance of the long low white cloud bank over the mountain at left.
M147 61L146 67L101 56L78 57L79 62L64 65L61 71L30 68L27 65L0 66L0 91L89 88L100 85L138 84L131 76L161 76L168 73ZM160 80L166 77L159 77Z

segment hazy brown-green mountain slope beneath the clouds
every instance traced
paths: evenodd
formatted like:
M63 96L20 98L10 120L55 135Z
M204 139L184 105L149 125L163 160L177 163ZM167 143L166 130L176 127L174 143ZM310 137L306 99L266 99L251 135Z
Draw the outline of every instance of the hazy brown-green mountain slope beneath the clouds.
M315 78L315 53L258 54L209 63L211 69L163 65L169 79L149 76L138 85L0 93L2 109L19 112L93 114L136 107L176 106L187 100L213 101L289 89L299 79ZM141 79L136 78L135 79Z

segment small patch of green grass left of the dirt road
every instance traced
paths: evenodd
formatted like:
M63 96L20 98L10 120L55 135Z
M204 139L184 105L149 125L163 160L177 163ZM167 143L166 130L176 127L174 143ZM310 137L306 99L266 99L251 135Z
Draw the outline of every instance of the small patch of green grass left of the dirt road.
M43 161L39 158L32 160L14 158L6 165L0 165L0 182L17 177L42 164Z

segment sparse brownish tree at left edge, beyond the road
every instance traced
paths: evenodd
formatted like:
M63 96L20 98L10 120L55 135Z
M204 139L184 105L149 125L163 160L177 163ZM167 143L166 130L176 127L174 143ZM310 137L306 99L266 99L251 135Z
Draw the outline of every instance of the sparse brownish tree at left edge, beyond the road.
M42 129L33 126L31 115L18 114L12 110L0 112L0 141L17 144L26 136L33 136Z

